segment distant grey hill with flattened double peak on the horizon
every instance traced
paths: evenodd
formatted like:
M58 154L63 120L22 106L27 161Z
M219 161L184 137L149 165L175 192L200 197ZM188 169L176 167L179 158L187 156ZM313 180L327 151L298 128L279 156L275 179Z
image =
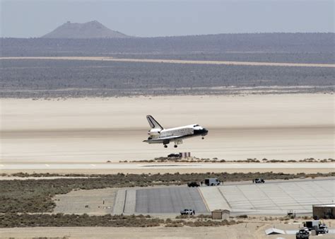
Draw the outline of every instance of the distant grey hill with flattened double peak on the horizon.
M98 21L88 23L67 22L59 26L51 33L42 38L69 38L69 39L88 39L88 38L124 38L129 37L115 30L110 30Z

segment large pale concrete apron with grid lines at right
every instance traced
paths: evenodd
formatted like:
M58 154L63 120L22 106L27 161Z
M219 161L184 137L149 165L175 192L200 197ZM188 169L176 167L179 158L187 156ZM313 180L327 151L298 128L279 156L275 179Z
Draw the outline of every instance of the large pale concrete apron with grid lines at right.
M233 212L286 214L312 212L312 204L335 200L335 180L276 182L220 187Z

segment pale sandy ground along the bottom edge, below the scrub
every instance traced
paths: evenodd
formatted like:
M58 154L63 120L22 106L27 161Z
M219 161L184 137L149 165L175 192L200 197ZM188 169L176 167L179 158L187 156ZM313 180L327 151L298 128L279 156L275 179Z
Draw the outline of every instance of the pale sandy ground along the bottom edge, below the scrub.
M300 220L301 221L301 220ZM329 225L329 221L326 221ZM330 222L331 223L331 222ZM334 224L331 223L331 224ZM220 227L182 228L102 228L102 227L40 227L40 228L0 228L1 238L295 238L295 235L266 235L268 228L298 230L301 223L292 221L264 221L255 218L248 223ZM334 238L334 234L310 236L310 238Z

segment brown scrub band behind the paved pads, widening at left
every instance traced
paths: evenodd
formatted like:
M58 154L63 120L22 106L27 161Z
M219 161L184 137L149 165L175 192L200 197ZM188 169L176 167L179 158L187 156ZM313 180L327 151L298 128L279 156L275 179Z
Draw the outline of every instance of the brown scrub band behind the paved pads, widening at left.
M18 174L17 174L18 175ZM20 176L29 177L21 173ZM70 175L73 176L73 175ZM80 175L88 176L88 175ZM300 177L329 177L331 173L165 173L165 174L123 174L94 175L94 177L57 178L39 180L0 180L0 213L52 212L56 194L71 190L93 190L107 187L148 187L155 185L185 185L187 182L201 182L206 177L217 177L222 182L253 180L289 180Z

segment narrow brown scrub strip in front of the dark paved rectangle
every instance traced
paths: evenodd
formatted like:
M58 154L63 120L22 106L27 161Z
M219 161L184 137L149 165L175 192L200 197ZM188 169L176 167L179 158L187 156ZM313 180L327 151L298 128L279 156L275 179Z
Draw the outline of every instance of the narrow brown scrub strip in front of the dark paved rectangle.
M36 226L108 226L108 227L181 227L181 226L228 226L240 223L234 220L211 220L208 218L184 218L166 220L150 215L89 216L88 214L0 214L0 228Z

